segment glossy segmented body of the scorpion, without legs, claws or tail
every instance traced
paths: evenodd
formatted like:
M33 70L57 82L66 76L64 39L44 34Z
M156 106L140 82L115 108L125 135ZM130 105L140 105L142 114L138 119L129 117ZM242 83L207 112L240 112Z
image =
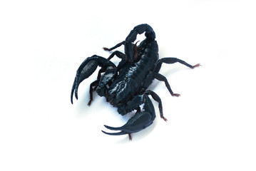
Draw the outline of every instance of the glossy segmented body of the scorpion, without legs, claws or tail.
M156 41L151 41L144 49L140 61L133 64L126 63L116 81L109 88L108 98L112 100L113 105L127 103L134 95L137 95L157 61L158 45Z

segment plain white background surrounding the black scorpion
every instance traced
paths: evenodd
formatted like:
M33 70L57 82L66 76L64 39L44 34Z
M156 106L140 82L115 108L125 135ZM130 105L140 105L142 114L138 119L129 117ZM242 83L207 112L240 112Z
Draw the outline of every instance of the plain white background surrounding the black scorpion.
M0 170L256 170L255 3L253 1L1 1ZM93 74L70 103L88 56L147 23L163 64L151 90L168 122L128 136L101 133L128 116L94 94ZM143 38L143 36L139 36ZM123 51L123 46L118 48ZM118 63L117 58L113 58ZM97 72L96 72L97 73Z

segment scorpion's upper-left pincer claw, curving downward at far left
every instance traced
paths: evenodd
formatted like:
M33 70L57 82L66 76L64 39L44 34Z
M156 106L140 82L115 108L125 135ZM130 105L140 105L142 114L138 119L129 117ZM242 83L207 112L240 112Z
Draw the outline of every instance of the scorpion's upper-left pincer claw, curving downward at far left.
M71 103L73 103L73 93L75 92L76 99L78 99L78 86L79 84L91 74L96 71L96 68L98 66L101 66L103 68L106 68L108 66L113 66L116 68L116 65L109 61L106 58L103 58L101 56L91 56L89 58L86 58L86 60L83 61L81 66L79 66L78 70L76 71L76 78L73 82L72 90L71 90Z

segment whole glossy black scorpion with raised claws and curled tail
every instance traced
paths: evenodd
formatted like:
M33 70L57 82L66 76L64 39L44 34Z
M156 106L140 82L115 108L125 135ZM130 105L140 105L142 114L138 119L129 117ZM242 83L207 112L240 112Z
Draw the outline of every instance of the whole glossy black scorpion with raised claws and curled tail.
M145 39L137 46L134 41L138 34L145 32ZM96 71L98 66L101 69L98 71L96 81L93 81L90 86L90 100L88 105L91 105L93 100L93 91L96 90L98 95L106 98L106 101L111 103L118 109L118 113L126 115L133 110L136 110L128 122L118 128L104 125L109 130L116 130L116 133L103 133L108 135L126 135L128 134L131 140L131 133L136 133L144 128L147 128L155 119L155 109L149 95L158 102L160 117L167 120L163 116L163 107L160 97L153 92L147 90L148 86L153 82L153 79L164 81L170 95L180 96L178 93L173 93L165 76L158 73L162 63L182 63L189 68L200 66L200 63L195 66L182 61L178 58L158 58L158 43L155 41L155 32L148 24L140 24L135 26L128 34L125 41L118 43L113 48L103 48L105 51L112 51L119 46L124 45L125 53L114 51L111 56L103 58L93 55L86 58L76 72L76 78L73 82L71 90L71 103L73 103L73 93L78 99L79 84ZM120 63L116 66L110 60L113 56L121 58ZM102 74L103 73L103 74ZM143 109L140 109L143 105Z

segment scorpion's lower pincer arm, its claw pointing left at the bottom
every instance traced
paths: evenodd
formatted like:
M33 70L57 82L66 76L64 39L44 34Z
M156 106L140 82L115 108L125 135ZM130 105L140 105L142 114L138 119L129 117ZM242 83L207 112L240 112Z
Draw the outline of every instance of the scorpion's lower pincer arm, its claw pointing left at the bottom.
M104 125L109 130L120 130L118 133L106 133L102 130L103 133L108 135L129 135L129 140L131 140L131 133L136 133L140 130L147 128L149 125L153 123L155 120L155 109L153 103L151 102L148 95L145 93L143 95L137 95L133 100L128 103L128 108L130 109L137 109L139 105L144 104L143 111L138 110L132 118L128 120L128 122L118 128L110 127Z

